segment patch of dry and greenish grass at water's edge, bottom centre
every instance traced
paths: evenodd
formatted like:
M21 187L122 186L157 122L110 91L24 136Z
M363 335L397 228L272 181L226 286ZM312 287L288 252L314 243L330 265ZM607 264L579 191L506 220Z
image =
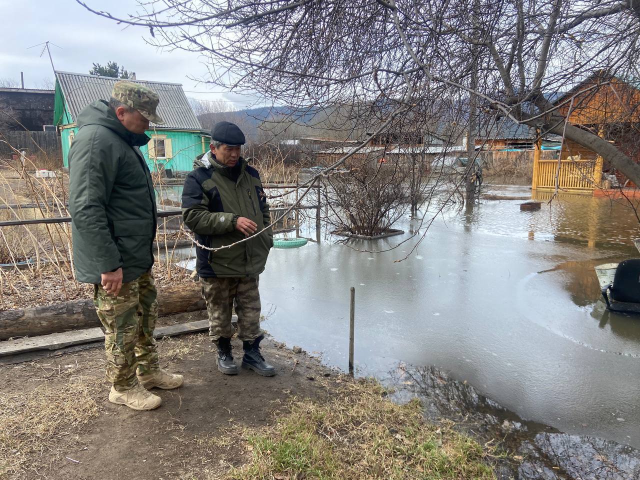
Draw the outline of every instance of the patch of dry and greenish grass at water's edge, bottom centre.
M337 388L336 388L337 387ZM342 381L328 401L296 399L273 426L202 439L220 449L239 438L247 461L193 471L193 480L490 480L496 451L424 419L417 399L399 405L374 381ZM195 440L193 440L195 441Z

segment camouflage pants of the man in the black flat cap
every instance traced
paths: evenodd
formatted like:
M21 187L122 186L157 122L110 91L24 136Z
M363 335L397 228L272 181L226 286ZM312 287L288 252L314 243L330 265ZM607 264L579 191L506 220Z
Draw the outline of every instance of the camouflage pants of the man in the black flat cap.
M236 331L231 324L231 311L236 300L238 338L255 340L260 330L260 292L258 278L200 278L202 298L209 313L209 337L231 338Z

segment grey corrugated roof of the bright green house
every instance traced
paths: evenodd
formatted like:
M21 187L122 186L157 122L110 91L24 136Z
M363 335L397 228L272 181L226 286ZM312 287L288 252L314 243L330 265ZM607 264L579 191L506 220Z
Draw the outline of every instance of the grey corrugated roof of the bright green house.
M109 100L113 84L120 80L97 75L56 72L67 106L74 122L84 107L94 100ZM160 97L157 113L164 119L162 129L201 130L202 125L189 105L182 85L179 83L129 80L152 88Z

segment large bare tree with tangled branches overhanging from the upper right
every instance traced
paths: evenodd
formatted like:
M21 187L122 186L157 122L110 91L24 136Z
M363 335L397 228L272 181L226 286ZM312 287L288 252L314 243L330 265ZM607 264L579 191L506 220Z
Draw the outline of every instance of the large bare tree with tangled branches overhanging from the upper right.
M563 134L638 184L640 166L566 125L552 99L596 69L632 74L639 18L637 0L163 0L118 20L149 28L154 44L209 55L216 84L290 106L466 98Z

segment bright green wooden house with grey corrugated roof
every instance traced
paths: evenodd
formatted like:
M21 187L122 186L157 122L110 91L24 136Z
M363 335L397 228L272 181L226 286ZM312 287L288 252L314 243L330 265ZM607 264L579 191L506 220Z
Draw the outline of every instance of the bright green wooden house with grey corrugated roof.
M109 100L111 89L118 79L96 75L56 72L54 123L60 130L62 157L68 168L69 147L77 134L77 115L93 100ZM209 149L210 136L189 105L182 85L131 80L152 88L160 97L158 113L164 125L147 131L151 141L141 152L152 172L171 169L172 172L191 171L193 159Z

